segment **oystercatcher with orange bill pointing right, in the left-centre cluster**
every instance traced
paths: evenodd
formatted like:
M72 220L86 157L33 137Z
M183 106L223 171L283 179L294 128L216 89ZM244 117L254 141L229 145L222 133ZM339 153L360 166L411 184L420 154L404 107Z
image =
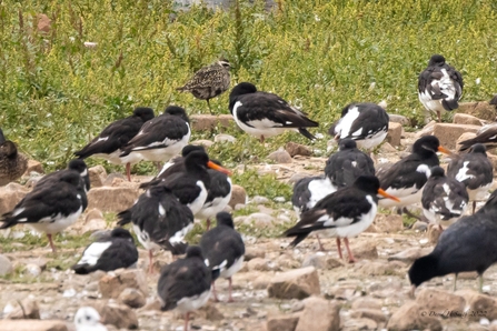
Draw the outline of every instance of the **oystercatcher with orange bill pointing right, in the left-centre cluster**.
M185 158L186 171L172 173L155 184L169 188L178 200L188 205L196 215L202 209L209 194L211 182L209 168L231 174L231 171L209 160L207 153L195 151Z

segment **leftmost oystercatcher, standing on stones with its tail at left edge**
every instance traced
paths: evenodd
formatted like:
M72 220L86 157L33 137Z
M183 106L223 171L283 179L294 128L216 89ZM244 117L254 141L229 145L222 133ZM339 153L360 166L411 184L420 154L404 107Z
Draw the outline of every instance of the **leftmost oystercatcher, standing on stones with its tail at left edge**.
M88 205L87 194L77 171L63 173L50 185L42 185L24 197L12 211L0 218L7 229L16 224L27 224L38 232L47 233L52 251L52 234L72 225Z

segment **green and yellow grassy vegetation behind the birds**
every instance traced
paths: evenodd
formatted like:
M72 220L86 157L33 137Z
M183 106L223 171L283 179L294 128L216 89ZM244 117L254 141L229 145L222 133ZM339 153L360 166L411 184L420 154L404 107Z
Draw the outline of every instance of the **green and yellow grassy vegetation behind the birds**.
M325 134L351 101L386 99L390 112L419 122L417 74L435 52L461 71L464 100L487 100L497 91L495 1L276 3L266 11L261 1L246 0L229 10L178 10L163 0L2 1L1 127L48 170L62 168L74 150L136 106L159 113L176 103L189 113L208 113L205 101L175 88L220 56L233 66L233 84L251 81L279 93L318 120L314 132ZM52 20L49 32L37 31L38 13ZM87 48L86 41L97 46ZM228 93L211 104L228 113ZM215 150L235 162L260 160L288 140L307 143L287 133L269 139L265 149L233 132L243 149ZM195 132L192 139L206 134ZM316 147L326 150L326 142ZM135 171L153 168L140 164Z

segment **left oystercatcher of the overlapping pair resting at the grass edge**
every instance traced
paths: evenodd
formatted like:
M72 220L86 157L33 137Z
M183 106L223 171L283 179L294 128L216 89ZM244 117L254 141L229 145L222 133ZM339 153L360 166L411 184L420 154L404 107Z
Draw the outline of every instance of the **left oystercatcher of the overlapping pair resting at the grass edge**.
M138 107L133 114L126 119L117 120L107 126L99 136L93 138L80 151L74 152L80 159L96 157L105 159L113 164L126 164L126 174L131 181L131 164L141 160L138 154L120 157L122 148L137 136L143 123L153 119L151 108Z

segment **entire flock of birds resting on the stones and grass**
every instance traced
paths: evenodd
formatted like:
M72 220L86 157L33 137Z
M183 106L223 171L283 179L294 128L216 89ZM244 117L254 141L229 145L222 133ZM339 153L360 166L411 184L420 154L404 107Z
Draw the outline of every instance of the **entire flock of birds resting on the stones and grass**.
M221 59L196 72L178 90L207 100L210 110L209 100L229 86L229 62ZM460 73L443 56L435 54L419 74L419 100L440 121L444 111L457 109L463 87ZM258 91L252 83L235 86L228 108L239 128L260 142L286 130L316 139L308 129L317 128L318 122L277 94ZM348 261L355 262L349 238L372 223L378 207L412 215L409 208L420 204L426 221L443 232L435 250L416 260L408 271L412 293L434 277L455 273L457 279L463 271L481 275L497 261L497 193L476 211L476 201L485 200L493 183L486 147L497 147L497 126L484 128L475 139L463 142L467 152L455 154L441 147L437 137L426 136L414 142L409 156L376 169L370 154L385 140L388 123L388 113L375 103L355 102L342 109L340 119L328 131L338 141L339 150L324 164L322 174L302 178L294 185L291 202L299 221L282 233L294 238L289 247L314 233L319 249L325 250L320 238L335 238L339 258L342 259L344 242ZM245 255L242 237L235 230L231 215L225 212L231 198L231 171L211 160L203 147L189 144L190 137L190 121L183 108L169 106L157 117L150 108L136 108L130 117L110 123L76 151L77 159L66 170L39 180L11 211L1 215L0 229L30 225L44 232L56 251L52 235L73 224L88 205L86 158L126 164L130 181L131 164L142 160L156 162L160 171L151 181L141 183L143 193L133 205L118 213L117 227L110 233L85 249L72 270L87 274L136 264L138 251L132 235L123 228L131 224L138 241L149 251L150 273L155 252L171 252L175 261L162 268L158 294L162 310L177 308L186 313L187 330L191 311L203 305L211 294L218 300L218 278L229 281L232 301L231 277L241 269ZM450 159L447 171L440 167L438 152ZM26 167L26 157L0 130L0 185L18 179ZM465 215L469 202L473 213ZM188 245L185 237L196 218L207 220L207 231L199 245ZM213 218L217 227L210 229ZM185 258L178 259L182 254ZM91 308L82 308L74 321L85 324L85 320L98 324L99 315Z

